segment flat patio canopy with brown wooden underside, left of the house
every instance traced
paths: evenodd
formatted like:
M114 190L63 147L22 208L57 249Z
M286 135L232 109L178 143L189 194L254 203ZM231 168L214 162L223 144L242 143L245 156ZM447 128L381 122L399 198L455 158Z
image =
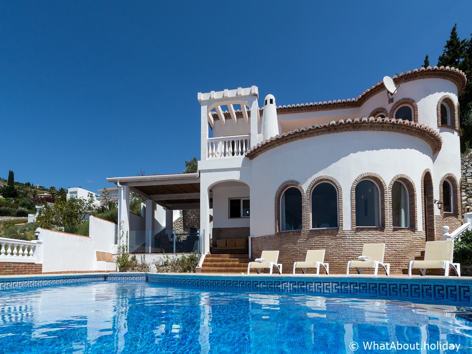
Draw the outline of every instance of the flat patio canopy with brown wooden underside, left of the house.
M117 185L126 185L130 191L144 199L151 199L166 209L200 208L200 177L198 173L109 177L107 180ZM210 195L210 205L212 202Z

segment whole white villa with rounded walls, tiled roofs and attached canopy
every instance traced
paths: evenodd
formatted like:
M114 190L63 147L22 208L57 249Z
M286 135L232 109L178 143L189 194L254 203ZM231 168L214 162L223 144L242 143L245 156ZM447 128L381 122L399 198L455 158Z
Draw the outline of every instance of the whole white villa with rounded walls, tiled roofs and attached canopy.
M442 226L462 224L466 77L435 66L393 81L393 95L378 83L357 98L288 106L267 95L260 107L256 86L198 93L198 173L107 178L118 187L124 235L137 231L133 191L146 199L149 250L158 204L166 225L173 210L200 209L205 253L217 239L244 238L250 257L279 250L293 264L324 248L330 269L345 272L364 243L384 242L385 262L400 272L426 240L441 239Z

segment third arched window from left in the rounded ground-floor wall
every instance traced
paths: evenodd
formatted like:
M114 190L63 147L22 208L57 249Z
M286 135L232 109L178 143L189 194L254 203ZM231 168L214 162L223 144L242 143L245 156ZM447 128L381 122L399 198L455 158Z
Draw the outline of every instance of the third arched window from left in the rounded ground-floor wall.
M355 186L355 226L380 225L379 187L371 180L361 180Z

